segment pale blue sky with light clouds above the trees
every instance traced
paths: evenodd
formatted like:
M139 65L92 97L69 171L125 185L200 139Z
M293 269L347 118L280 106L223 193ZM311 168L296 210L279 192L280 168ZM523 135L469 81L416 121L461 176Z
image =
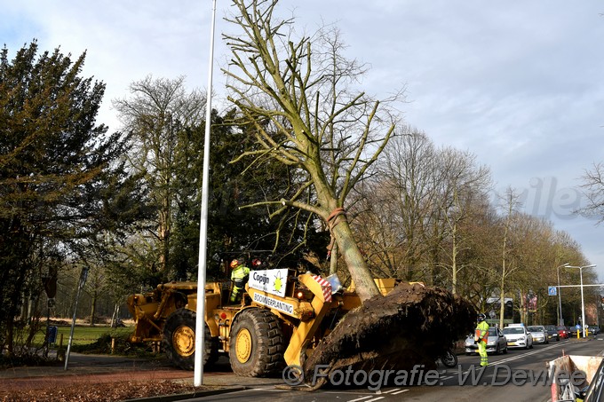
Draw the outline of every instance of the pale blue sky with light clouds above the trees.
M147 75L208 87L211 0L0 0L0 9L9 58L34 38L41 51L86 51L82 75L107 84L98 122L111 131L121 128L111 100ZM217 1L218 109L229 55L221 34L233 32L224 20L232 10ZM407 124L437 146L476 155L491 169L492 202L508 187L521 193L522 210L575 239L604 283L604 224L573 213L580 177L604 162L601 1L281 0L278 10L307 32L338 27L346 56L370 67L363 90L385 98L404 88Z

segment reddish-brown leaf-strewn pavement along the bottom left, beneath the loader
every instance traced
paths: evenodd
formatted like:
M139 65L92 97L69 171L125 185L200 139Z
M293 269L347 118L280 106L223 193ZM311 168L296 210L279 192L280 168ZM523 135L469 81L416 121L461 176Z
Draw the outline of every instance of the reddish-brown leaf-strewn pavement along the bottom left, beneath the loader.
M52 352L49 357L53 358ZM56 366L11 367L0 370L0 389L18 390L20 388L37 388L40 384L48 386L49 384L65 383L76 386L77 382L114 382L124 379L140 381L173 380L193 385L194 373L171 367L165 359L132 359L110 355L71 353L67 370L65 365L60 363ZM237 376L230 370L228 359L220 358L211 371L203 372L202 387L194 393L132 400L164 402L249 388L274 388L282 384L281 378Z

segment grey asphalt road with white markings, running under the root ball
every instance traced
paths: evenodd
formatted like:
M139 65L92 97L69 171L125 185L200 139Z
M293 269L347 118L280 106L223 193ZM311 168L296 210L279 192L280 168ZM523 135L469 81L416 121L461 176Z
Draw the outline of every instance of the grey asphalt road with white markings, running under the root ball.
M390 374L384 382L386 373L374 373L365 377L363 373L341 372L333 382L338 387L322 388L314 392L300 390L281 390L274 386L250 388L224 395L207 398L192 398L189 401L230 401L247 402L394 402L394 401L537 401L545 402L550 398L550 382L547 380L546 363L559 358L562 353L575 355L601 355L604 353L604 336L590 338L587 341L571 339L544 345L535 345L533 349L510 350L507 354L489 356L489 367L478 367L477 355L459 356L459 366L429 372L423 367L409 371L406 377ZM367 381L362 386L354 382ZM372 381L370 381L370 379ZM381 382L379 380L382 380ZM405 381L406 380L406 381ZM332 383L333 383L332 382ZM350 383L346 386L346 383ZM385 383L385 385L384 385Z

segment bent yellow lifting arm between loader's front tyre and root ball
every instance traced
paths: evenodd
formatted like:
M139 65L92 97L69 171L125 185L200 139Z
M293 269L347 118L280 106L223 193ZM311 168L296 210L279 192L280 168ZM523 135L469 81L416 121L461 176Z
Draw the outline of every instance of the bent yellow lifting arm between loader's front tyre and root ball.
M300 321L298 327L294 329L291 335L290 344L285 350L283 358L288 366L302 367L302 353L306 350L306 345L313 339L316 330L321 325L323 317L330 311L331 302L325 301L321 285L310 274L299 275L298 280L314 294L313 301L311 302L314 318Z

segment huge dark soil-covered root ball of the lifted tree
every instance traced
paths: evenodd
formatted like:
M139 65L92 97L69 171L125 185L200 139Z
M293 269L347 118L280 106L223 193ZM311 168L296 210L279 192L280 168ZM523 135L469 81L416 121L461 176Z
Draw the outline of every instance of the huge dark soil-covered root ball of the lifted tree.
M353 367L410 370L436 367L436 360L453 343L472 333L476 311L465 299L442 288L402 282L387 296L375 296L348 312L304 362L305 378L314 368L324 374ZM312 384L313 389L322 383Z

